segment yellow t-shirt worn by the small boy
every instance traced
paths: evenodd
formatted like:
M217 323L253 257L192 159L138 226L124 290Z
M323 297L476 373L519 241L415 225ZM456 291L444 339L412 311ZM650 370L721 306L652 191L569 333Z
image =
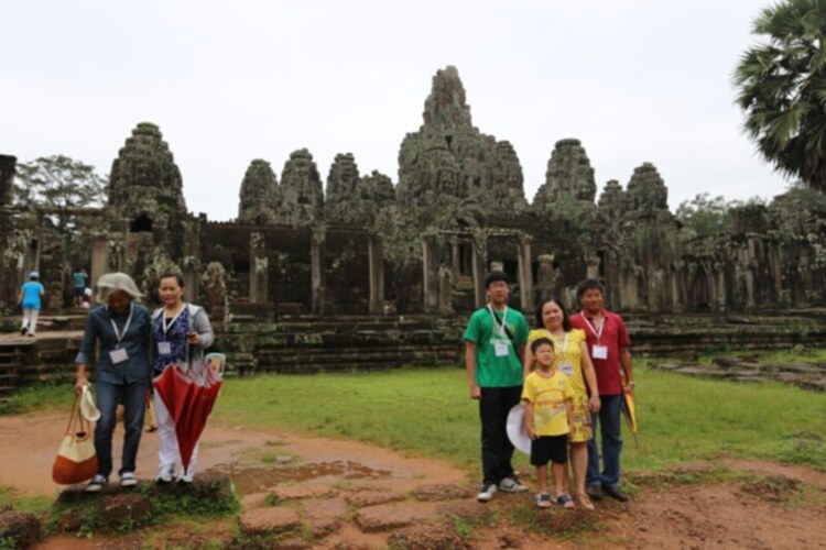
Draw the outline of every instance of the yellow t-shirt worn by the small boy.
M568 415L565 402L574 397L568 377L558 371L545 378L532 372L525 378L522 400L533 405L533 429L540 436L568 433Z

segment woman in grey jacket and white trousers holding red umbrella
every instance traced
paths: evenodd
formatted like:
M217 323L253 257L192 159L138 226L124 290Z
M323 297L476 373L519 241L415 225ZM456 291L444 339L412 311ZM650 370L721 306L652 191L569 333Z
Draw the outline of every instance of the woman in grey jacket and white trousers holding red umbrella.
M177 273L161 275L157 294L164 306L152 314L152 356L154 376L175 363L198 362L204 350L213 345L215 334L204 308L184 302L184 279ZM163 399L155 392L155 416L157 419L159 461L157 483L171 483L181 453L175 435L175 419L170 415ZM198 446L189 461L182 466L177 480L192 483Z

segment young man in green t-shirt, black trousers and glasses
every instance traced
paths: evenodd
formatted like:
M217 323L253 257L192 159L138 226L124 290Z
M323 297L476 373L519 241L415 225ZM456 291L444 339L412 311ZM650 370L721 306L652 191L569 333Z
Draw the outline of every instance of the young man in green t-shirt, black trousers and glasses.
M477 499L488 502L497 490L528 491L511 465L513 444L507 421L522 396L522 362L528 321L508 307L508 275L492 271L485 276L488 306L470 316L465 330L465 366L469 394L479 400L481 419L482 487Z

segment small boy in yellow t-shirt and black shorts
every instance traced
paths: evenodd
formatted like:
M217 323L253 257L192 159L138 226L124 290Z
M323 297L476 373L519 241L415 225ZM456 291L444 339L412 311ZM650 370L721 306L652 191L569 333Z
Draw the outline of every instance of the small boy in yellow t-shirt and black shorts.
M547 508L552 499L547 492L547 463L554 475L554 499L573 508L574 501L565 493L568 461L568 432L573 414L570 399L574 391L568 377L554 370L554 343L548 338L531 342L535 369L528 375L522 391L525 404L525 428L531 443L531 464L536 466L536 506Z

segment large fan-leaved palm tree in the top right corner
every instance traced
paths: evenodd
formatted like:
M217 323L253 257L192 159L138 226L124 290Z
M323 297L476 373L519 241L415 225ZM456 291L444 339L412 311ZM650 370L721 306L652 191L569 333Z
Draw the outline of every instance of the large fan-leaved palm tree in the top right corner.
M735 69L743 128L781 173L826 190L826 0L765 8Z

